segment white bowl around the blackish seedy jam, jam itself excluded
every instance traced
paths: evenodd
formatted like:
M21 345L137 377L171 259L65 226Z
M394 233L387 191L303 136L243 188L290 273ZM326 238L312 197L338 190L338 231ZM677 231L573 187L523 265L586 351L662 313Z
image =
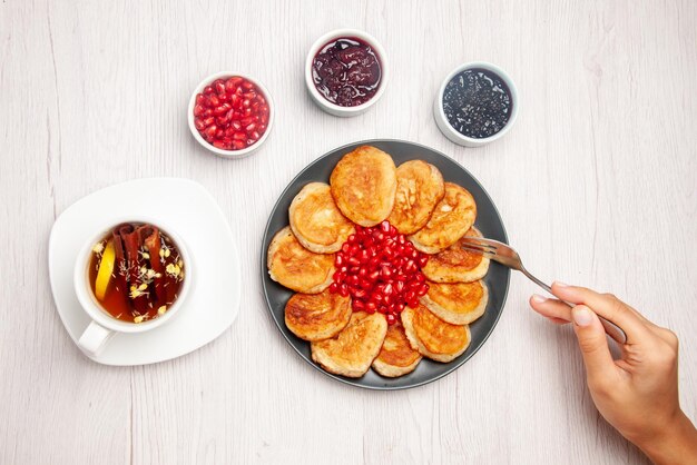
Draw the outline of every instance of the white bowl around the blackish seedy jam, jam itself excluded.
M503 80L503 82L508 86L511 92L512 111L505 126L503 126L503 129L501 129L499 132L494 133L493 136L481 138L481 139L467 137L458 132L455 128L450 126L450 122L448 122L448 118L445 118L445 112L443 111L443 92L445 91L445 86L448 86L448 82L450 82L450 80L454 78L455 75L458 75L459 72L462 72L465 69L473 69L473 68L485 69L487 71L491 71L498 75ZM516 89L516 83L510 78L510 76L508 76L505 71L503 71L501 68L499 68L495 65L488 63L485 61L472 61L472 62L459 66L458 68L452 70L452 72L448 75L445 79L443 79L443 82L441 83L441 87L435 96L435 101L433 102L433 117L435 118L435 123L438 125L441 132L443 132L443 135L450 140L452 140L453 142L461 145L461 146L465 146L465 147L481 147L489 142L493 142L497 139L500 139L501 137L503 137L503 135L505 135L511 129L511 127L516 122L516 118L518 117L519 108L520 108L520 102L518 100L518 90Z

